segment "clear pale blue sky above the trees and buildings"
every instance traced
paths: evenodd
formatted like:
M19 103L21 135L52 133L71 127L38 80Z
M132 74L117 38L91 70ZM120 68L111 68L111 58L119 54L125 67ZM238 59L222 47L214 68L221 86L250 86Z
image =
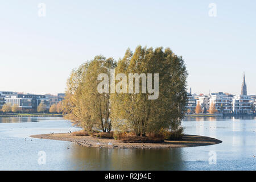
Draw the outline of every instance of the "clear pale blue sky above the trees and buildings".
M239 94L245 71L256 94L255 19L255 1L1 1L0 90L61 93L84 61L142 45L183 56L193 93Z

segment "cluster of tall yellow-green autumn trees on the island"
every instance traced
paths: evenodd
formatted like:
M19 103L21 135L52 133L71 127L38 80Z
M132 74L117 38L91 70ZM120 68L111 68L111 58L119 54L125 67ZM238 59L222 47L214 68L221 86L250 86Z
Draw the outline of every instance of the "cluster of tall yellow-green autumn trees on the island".
M105 73L111 77L113 68L115 76L122 73L121 77L115 77L114 83L122 92L110 92L113 90L103 85L109 92L99 93L98 85L102 80L98 80L98 75ZM126 78L130 73L159 73L159 85L154 85L159 86L158 98L148 100L152 94L142 92L143 78L139 79L140 92L127 94ZM71 72L63 101L64 117L85 131L110 132L114 129L132 131L137 136L163 130L175 132L181 129L181 119L186 111L187 75L183 58L176 56L170 48L138 46L134 53L127 49L118 61L96 56ZM134 86L135 80L132 83Z

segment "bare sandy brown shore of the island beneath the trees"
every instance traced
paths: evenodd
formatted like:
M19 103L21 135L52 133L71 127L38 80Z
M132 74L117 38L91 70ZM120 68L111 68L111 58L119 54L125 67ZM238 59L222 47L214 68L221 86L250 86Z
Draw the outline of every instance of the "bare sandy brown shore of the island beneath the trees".
M95 138L91 136L74 136L70 133L31 135L39 139L63 140L79 144L84 147L99 148L175 148L196 147L221 143L221 140L197 135L184 135L181 140L164 140L163 143L121 143L114 139Z

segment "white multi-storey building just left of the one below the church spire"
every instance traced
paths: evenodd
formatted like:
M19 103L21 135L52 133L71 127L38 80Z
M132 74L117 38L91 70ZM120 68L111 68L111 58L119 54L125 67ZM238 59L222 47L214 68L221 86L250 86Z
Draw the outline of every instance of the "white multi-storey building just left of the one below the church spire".
M227 96L223 92L210 94L210 105L214 104L218 113L232 113L232 97Z

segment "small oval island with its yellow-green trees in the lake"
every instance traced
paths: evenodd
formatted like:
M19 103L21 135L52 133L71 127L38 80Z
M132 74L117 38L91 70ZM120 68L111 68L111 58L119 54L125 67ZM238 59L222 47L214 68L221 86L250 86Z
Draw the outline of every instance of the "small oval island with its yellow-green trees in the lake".
M95 56L67 81L64 119L81 131L31 137L71 141L86 147L173 148L220 140L184 134L187 68L170 48L129 48L123 59Z

